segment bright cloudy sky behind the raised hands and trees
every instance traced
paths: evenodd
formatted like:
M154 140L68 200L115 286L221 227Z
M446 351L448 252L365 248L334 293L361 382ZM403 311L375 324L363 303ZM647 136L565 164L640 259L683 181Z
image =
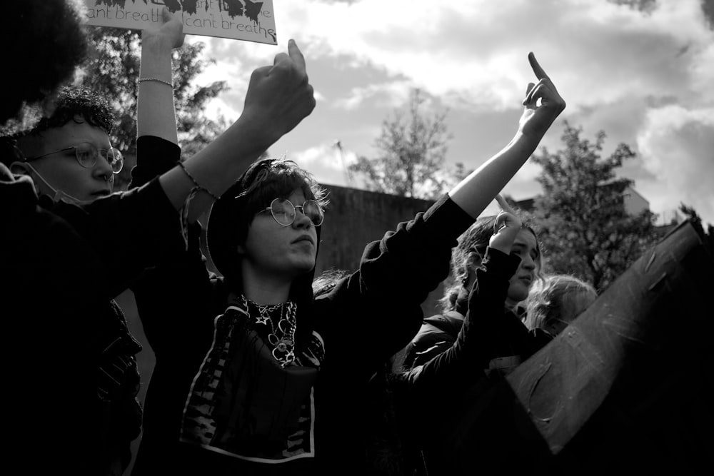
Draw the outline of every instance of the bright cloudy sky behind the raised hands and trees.
M680 202L714 224L714 0L273 0L278 46L190 36L215 58L199 83L231 90L208 110L236 118L251 71L288 39L306 56L317 106L271 147L322 183L346 186L344 163L376 156L385 118L421 88L448 109L448 164L477 168L513 137L533 51L568 108L541 142L562 147L563 120L638 156L620 175L660 214ZM340 141L343 154L335 147ZM540 191L526 163L504 193ZM358 184L353 183L358 186Z

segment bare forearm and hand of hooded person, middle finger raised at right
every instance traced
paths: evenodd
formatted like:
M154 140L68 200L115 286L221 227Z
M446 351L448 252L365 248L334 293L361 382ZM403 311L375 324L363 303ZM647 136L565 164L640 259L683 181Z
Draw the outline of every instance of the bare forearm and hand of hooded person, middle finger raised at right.
M525 108L516 136L508 146L463 179L449 193L451 200L473 218L481 215L493 197L516 175L518 169L535 152L540 139L555 118L565 109L565 101L558 94L553 81L550 81L535 60L533 53L528 54L528 61L538 83L528 83L526 98L523 100Z

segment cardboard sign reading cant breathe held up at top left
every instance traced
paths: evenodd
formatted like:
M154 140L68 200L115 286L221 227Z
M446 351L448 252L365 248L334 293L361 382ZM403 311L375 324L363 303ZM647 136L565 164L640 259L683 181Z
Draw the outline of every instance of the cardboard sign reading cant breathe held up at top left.
M86 23L146 29L164 6L181 14L183 33L278 44L273 0L84 0Z

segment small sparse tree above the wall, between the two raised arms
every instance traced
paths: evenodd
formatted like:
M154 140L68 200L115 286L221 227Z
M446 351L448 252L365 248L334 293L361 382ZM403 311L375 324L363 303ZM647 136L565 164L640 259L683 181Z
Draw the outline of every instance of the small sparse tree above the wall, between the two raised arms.
M376 147L381 151L376 158L360 156L348 167L366 178L368 190L393 195L433 198L449 183L468 175L463 164L454 171L443 171L446 143L451 134L446 130L446 111L426 116L422 111L424 98L413 89L404 111L394 111L394 117L382 123Z

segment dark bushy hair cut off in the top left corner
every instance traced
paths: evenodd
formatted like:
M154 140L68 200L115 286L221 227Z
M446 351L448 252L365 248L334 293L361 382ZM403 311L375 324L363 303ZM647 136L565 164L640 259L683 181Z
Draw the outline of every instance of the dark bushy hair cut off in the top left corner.
M23 103L42 101L74 74L87 46L75 2L65 0L7 1L8 20L0 30L5 45L0 123L14 118Z

